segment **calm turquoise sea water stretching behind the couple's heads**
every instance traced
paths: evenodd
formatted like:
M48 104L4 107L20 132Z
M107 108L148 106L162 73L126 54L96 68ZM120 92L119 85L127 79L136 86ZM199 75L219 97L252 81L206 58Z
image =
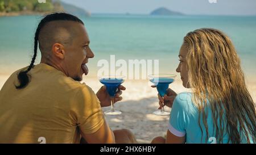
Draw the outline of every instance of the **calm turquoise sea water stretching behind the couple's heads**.
M256 75L255 16L142 16L93 15L82 19L95 57L89 76L96 77L98 60L158 59L160 73L175 73L183 37L196 28L212 27L233 40L247 76ZM0 74L30 63L33 35L40 16L0 17ZM40 61L40 55L36 62Z

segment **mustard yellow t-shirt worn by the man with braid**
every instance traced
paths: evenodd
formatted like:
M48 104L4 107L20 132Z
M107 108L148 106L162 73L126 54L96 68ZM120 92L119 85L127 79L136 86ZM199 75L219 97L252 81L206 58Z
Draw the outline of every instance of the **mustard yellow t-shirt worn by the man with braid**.
M81 132L104 124L100 101L85 83L38 64L27 87L16 89L20 70L0 91L0 143L79 143Z

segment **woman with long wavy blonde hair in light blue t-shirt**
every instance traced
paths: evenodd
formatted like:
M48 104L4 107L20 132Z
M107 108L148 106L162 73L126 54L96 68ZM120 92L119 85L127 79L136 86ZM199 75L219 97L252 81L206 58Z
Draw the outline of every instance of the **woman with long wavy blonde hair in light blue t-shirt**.
M193 93L168 89L159 97L172 111L166 139L152 143L255 143L255 104L229 37L212 28L189 32L179 58L176 72Z

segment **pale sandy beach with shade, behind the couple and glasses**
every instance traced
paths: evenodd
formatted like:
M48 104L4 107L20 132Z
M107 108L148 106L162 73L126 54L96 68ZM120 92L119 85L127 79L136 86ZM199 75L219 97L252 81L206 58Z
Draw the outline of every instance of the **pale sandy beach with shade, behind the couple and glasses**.
M0 75L0 88L2 88L8 77L8 75ZM97 78L84 77L82 82L92 87L95 93L102 86ZM146 80L126 80L123 83L123 86L126 87L126 91L123 91L122 94L123 100L114 104L115 109L122 111L122 115L105 116L112 129L130 129L139 143L150 143L154 137L166 135L167 131L169 116L152 114L158 108L158 98L156 89L152 89L150 85L151 83ZM176 93L190 91L182 86L179 76L170 87ZM256 79L247 81L247 87L255 102ZM106 107L103 110L105 111L109 108ZM170 111L171 109L166 107L166 110Z

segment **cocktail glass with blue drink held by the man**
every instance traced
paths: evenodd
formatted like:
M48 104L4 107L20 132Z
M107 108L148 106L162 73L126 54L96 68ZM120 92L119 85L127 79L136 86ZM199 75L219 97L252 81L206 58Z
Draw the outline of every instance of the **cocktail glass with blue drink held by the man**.
M120 115L121 111L114 110L114 97L117 93L118 87L125 81L124 76L101 76L99 77L100 82L106 86L111 99L111 110L105 111L106 115Z

